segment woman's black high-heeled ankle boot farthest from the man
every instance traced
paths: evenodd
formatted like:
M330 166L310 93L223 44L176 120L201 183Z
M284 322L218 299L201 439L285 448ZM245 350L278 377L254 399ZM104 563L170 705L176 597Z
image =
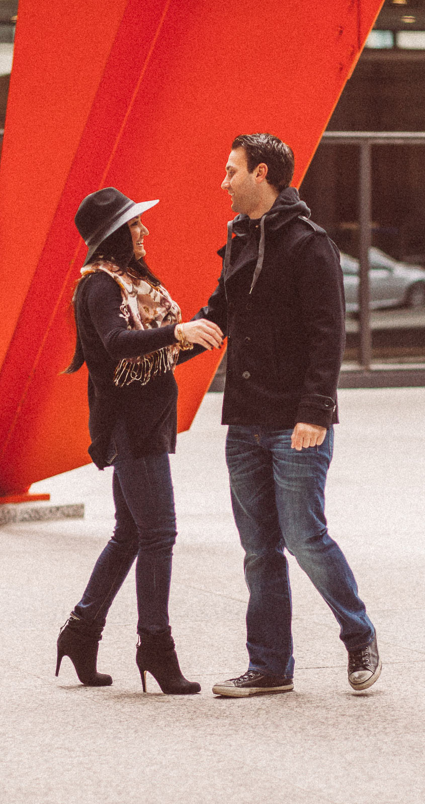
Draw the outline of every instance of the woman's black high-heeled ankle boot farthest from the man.
M71 614L60 629L57 640L56 675L59 675L60 662L64 656L68 656L82 684L86 687L109 687L112 684L110 675L98 673L96 669L101 631L101 628L88 626L80 617Z

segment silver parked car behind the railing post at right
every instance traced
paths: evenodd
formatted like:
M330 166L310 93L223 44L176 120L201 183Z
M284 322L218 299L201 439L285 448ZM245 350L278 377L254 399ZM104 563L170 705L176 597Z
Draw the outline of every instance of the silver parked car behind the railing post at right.
M359 309L359 260L341 252L348 313ZM379 248L369 248L370 309L425 306L425 269L393 260Z

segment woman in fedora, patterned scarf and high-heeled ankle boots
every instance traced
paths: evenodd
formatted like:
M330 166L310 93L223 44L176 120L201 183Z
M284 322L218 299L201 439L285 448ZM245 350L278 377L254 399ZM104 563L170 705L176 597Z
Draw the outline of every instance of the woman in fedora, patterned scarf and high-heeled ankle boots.
M89 246L73 297L76 350L66 371L89 368L89 454L113 465L116 524L83 597L60 631L56 675L68 656L83 684L101 687L97 650L106 615L136 559L136 662L163 692L200 685L181 674L168 620L175 509L168 453L175 451L180 349L220 348L222 333L200 319L181 323L179 306L148 269L141 215L157 201L134 203L114 187L88 195L76 228Z

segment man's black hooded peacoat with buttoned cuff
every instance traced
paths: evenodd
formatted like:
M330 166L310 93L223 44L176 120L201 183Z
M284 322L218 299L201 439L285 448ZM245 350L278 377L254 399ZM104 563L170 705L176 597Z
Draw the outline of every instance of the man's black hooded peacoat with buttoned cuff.
M338 421L345 346L340 255L309 215L288 187L262 219L237 215L229 224L217 289L194 316L227 334L223 424L328 428Z

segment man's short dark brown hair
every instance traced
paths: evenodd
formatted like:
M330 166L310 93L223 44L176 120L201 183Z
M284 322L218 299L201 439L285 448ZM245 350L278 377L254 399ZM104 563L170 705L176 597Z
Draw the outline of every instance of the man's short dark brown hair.
M246 153L248 172L264 162L268 168L266 180L276 190L285 190L294 175L294 154L285 142L272 134L240 134L232 142L232 150L243 148Z

